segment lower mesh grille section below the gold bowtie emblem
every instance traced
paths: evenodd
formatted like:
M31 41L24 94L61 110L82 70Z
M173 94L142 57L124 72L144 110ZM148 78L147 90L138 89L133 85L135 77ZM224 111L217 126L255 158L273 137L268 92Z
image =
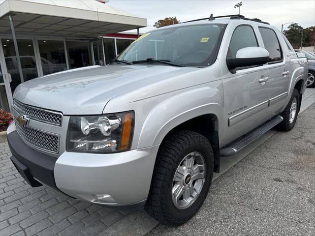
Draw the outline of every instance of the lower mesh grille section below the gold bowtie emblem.
M59 151L59 135L40 131L31 127L20 125L14 118L15 126L21 139L35 147L45 151L58 153Z

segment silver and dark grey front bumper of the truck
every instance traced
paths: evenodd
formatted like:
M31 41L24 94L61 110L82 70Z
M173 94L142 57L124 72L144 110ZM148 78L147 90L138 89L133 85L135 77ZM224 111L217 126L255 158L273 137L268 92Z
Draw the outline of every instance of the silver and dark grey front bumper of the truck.
M64 152L57 159L29 148L16 131L7 139L11 160L22 176L19 163L27 168L31 182L36 179L73 198L111 207L143 204L148 197L159 146L112 154ZM95 194L110 195L115 202L96 201Z

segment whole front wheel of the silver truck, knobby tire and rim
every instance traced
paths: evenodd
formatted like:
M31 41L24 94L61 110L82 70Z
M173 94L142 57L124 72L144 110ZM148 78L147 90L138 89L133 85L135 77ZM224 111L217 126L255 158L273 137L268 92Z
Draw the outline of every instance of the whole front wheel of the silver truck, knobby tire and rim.
M147 212L165 225L181 225L202 206L212 181L210 142L189 130L169 134L158 150Z

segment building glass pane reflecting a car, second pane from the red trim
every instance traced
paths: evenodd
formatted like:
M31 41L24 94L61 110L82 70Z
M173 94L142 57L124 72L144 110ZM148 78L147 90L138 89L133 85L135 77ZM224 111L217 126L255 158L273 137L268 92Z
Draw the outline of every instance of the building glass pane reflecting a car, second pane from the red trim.
M63 41L38 40L43 75L67 69Z

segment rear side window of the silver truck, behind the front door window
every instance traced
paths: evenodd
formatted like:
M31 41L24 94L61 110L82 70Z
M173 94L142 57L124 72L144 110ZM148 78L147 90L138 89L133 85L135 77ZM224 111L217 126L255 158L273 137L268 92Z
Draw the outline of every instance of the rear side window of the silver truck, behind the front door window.
M269 52L269 62L282 61L282 51L275 31L259 27L259 32L264 42L265 49Z

